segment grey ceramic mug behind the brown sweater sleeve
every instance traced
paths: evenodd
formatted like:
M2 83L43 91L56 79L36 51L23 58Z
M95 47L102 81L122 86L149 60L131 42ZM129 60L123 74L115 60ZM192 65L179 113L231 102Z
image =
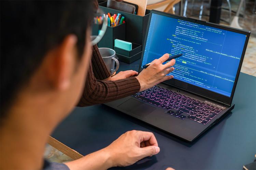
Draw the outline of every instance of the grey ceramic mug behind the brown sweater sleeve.
M106 67L109 69L110 73L113 74L115 71L119 68L119 62L115 58L116 52L115 50L111 48L99 48L100 55L106 65ZM116 63L116 68L115 68Z

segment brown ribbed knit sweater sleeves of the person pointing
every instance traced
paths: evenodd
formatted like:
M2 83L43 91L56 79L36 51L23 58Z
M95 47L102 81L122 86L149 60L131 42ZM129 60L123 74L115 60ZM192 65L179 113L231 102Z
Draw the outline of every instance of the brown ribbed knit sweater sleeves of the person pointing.
M93 46L93 56L88 70L83 95L78 106L106 103L135 94L140 83L135 77L117 81L103 81L110 77L97 46Z

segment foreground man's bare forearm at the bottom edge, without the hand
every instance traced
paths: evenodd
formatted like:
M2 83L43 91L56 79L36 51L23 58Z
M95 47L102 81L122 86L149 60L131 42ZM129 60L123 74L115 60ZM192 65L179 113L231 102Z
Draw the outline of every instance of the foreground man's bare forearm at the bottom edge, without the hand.
M111 156L105 149L90 153L80 159L65 163L70 170L108 169L113 167Z

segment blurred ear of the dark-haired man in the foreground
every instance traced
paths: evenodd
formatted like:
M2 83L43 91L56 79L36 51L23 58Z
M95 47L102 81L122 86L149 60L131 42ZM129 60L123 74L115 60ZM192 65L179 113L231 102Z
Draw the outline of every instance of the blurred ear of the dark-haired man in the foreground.
M47 57L47 78L54 88L66 90L70 86L77 62L77 38L68 35Z

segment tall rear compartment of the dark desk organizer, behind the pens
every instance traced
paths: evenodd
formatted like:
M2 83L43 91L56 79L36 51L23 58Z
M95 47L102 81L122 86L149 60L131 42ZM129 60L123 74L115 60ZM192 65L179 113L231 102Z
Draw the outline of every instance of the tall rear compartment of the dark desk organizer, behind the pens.
M147 23L150 16L150 10L146 10L145 16L139 16L135 14L130 14L127 12L115 10L112 8L106 7L107 2L99 3L99 8L105 13L121 14L125 17L126 23L126 41L130 41L136 44L142 45L144 43ZM118 38L119 39L119 38Z

